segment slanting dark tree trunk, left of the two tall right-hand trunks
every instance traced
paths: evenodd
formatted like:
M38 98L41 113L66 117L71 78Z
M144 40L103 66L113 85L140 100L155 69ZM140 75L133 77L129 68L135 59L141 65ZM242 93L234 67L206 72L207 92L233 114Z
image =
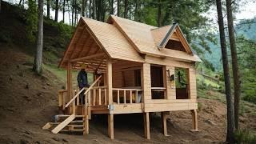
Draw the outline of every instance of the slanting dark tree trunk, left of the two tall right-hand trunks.
M230 87L230 72L229 63L226 51L226 38L224 31L224 22L222 14L222 2L221 0L216 0L217 12L218 12L218 27L220 42L222 47L222 63L224 70L224 80L225 80L225 91L226 91L226 111L227 111L227 133L226 141L234 143L234 105L231 98L231 87Z

